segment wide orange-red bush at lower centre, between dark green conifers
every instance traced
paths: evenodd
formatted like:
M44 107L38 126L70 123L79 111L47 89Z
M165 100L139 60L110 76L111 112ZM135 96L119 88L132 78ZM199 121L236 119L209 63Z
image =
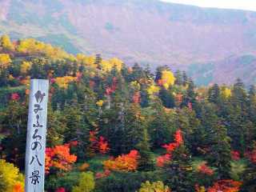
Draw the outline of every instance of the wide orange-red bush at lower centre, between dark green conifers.
M138 150L130 150L129 154L122 154L117 158L106 160L103 165L105 170L134 171L138 167L139 158Z

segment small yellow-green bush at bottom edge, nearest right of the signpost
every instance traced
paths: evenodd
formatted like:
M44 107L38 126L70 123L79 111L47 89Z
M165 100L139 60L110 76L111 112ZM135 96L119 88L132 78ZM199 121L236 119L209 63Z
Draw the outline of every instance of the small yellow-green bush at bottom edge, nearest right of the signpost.
M90 192L95 187L94 174L90 171L79 175L78 186L74 186L72 192Z

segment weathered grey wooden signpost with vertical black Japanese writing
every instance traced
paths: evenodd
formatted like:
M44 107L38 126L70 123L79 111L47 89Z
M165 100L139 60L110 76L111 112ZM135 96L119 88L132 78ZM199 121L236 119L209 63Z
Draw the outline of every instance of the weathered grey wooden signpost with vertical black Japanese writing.
M30 81L30 106L26 134L26 192L43 192L49 81Z

